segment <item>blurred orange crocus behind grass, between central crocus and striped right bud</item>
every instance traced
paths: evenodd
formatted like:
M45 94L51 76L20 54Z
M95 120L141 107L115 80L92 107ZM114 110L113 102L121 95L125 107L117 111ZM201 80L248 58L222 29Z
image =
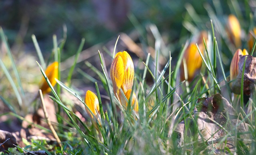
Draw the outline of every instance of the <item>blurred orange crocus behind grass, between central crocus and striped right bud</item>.
M201 51L202 52L202 51ZM184 53L184 60L186 61L188 81L191 81L196 73L202 66L202 58L198 52L196 44L190 44ZM181 66L180 78L183 81L185 79L184 63Z

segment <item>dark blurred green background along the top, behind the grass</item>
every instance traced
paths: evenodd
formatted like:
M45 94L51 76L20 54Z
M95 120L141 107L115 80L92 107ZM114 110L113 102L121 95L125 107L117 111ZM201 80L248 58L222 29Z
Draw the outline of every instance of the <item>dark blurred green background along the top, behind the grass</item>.
M194 19L198 28L210 22L206 4L216 8L217 14L230 14L233 3L244 6L247 1L222 0L1 0L0 26L4 29L10 45L22 45L25 51L34 50L31 35L35 34L42 52L52 49L52 35L63 35L67 28L66 58L85 38L84 49L112 37L118 32L135 29L130 17L134 16L141 26L156 24L165 41L175 44L182 37L189 38L184 20L190 21L188 10L196 11ZM218 8L219 6L221 8ZM245 7L242 7L245 8ZM214 9L215 10L215 9ZM221 10L221 12L220 12ZM246 12L246 10L242 10ZM235 13L235 12L234 12ZM191 20L192 21L192 20ZM200 26L200 22L204 25ZM209 26L209 24L208 24ZM25 46L24 46L25 44ZM175 48L174 48L175 50Z

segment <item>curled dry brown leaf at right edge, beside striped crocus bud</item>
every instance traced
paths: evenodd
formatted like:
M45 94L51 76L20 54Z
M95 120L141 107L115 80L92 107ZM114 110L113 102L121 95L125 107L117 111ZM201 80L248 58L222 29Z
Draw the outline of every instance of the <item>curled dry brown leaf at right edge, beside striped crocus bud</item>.
M256 58L250 55L246 55L247 59L244 68L244 95L250 95L251 91L255 89L256 83ZM232 83L231 90L233 93L241 93L241 79L243 73L244 60L246 56L240 55L240 60L238 62L238 76L236 80Z

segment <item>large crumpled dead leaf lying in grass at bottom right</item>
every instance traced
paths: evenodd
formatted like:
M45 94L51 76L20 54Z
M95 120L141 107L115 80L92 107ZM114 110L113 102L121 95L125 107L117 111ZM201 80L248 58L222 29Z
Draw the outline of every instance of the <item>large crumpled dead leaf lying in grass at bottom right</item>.
M239 119L232 105L219 93L212 97L200 98L197 103L199 105L194 109L194 119L186 120L190 123L189 129L185 129L184 122L179 123L176 128L176 132L182 136L181 139L185 136L198 139L201 144L206 144L209 150L215 150L215 153L227 153L224 148L234 153L237 147L241 147L237 145L239 140L239 143L250 145L246 139L250 139L251 135L244 133L249 130L250 125ZM200 134L197 131L200 131Z

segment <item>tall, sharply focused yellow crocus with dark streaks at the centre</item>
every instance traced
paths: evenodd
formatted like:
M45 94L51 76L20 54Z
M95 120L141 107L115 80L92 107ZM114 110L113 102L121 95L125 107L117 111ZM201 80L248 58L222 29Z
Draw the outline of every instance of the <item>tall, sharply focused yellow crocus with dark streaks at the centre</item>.
M118 52L116 54L110 67L110 76L113 83L114 95L121 103L121 105L126 107L127 103L120 89L122 89L124 94L130 98L134 79L134 65L132 58L126 51ZM138 112L138 104L136 104L137 99L134 99L134 97L136 98L135 94L133 94L132 97L132 105L135 104L134 110Z

